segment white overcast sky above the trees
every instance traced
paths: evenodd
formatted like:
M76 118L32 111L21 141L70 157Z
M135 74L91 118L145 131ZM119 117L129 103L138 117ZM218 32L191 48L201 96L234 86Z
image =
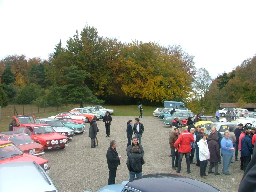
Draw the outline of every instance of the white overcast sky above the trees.
M215 78L256 53L256 1L0 0L0 59L47 59L86 22L99 36L180 44Z

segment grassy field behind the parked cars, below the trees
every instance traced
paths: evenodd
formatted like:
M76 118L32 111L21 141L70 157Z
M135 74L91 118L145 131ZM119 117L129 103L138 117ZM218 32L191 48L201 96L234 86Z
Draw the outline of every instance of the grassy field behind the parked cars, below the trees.
M90 105L84 105L90 106ZM35 118L47 118L50 116L57 115L60 112L68 112L73 108L79 108L79 105L68 105L63 107L47 107L38 108L34 105L8 105L7 107L1 107L1 122L0 122L0 132L8 131L9 124L12 122L14 115L29 115L33 114ZM140 110L137 109L138 105L129 106L110 106L104 105L106 108L111 108L115 110L112 116L139 116ZM152 116L153 111L157 107L143 106L143 116Z

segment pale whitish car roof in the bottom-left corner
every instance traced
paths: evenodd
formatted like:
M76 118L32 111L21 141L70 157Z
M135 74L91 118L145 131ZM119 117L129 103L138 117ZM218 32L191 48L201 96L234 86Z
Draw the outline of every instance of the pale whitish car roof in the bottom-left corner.
M58 191L50 177L36 162L0 164L0 175L0 191Z

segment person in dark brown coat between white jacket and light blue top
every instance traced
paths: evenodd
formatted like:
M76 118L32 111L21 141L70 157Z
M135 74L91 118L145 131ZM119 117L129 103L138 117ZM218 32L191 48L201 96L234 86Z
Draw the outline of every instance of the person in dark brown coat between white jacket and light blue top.
M219 144L218 144L218 140L219 140L218 135L213 134L212 135L212 140L210 140L209 143L208 143L208 148L209 148L209 151L210 151L210 167L209 167L209 170L208 170L208 174L213 173L212 172L212 167L213 167L213 164L215 163L215 172L214 172L214 174L215 175L220 175L220 173L218 173L218 167L219 167L218 162L219 162L221 156L220 156L220 147L219 147Z

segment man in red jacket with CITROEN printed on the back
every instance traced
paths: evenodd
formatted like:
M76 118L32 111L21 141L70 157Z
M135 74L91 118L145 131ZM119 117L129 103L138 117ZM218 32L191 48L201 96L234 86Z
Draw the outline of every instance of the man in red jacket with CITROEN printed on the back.
M190 143L194 142L195 139L193 135L188 132L187 130L184 130L180 135L179 138L174 143L174 147L179 152L179 161L178 161L178 169L176 170L177 173L180 173L181 170L181 162L182 158L185 154L186 163L187 163L187 172L190 173L190 162L189 162L189 156L191 152L191 146Z

